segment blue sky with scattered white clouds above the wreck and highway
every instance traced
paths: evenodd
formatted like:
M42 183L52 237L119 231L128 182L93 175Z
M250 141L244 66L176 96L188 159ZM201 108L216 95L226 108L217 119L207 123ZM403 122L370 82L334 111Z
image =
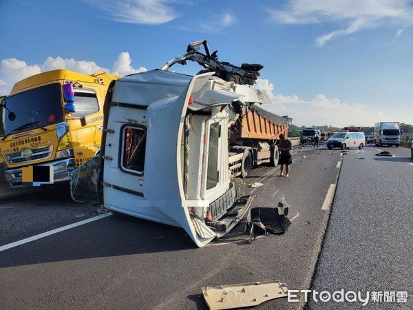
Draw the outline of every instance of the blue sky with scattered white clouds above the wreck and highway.
M87 74L159 68L189 42L207 39L222 61L262 63L259 85L274 101L268 110L297 125L413 123L412 6L410 0L1 0L0 92L56 68Z

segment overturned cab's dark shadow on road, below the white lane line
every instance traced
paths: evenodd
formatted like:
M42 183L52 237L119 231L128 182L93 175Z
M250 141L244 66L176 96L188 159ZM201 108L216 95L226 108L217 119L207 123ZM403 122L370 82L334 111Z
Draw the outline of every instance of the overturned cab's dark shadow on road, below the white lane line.
M114 214L0 252L0 268L194 249L183 229Z

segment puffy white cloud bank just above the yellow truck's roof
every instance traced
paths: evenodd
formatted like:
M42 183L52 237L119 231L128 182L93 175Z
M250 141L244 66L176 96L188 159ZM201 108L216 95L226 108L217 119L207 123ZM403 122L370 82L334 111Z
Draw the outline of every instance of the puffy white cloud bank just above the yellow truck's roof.
M0 65L0 95L8 94L14 83L44 71L67 69L83 74L94 72L110 72L109 69L100 67L94 61L76 61L63 59L61 56L53 58L48 56L43 64L28 65L25 61L15 58L3 59ZM131 67L131 56L128 52L121 52L114 61L113 72L120 75L146 71L146 68Z

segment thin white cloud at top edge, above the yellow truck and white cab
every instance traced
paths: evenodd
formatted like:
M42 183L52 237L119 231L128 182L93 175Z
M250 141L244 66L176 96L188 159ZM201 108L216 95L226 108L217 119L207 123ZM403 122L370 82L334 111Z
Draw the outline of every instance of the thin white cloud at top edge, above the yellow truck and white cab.
M105 11L114 21L160 25L176 19L171 0L87 0L97 10Z

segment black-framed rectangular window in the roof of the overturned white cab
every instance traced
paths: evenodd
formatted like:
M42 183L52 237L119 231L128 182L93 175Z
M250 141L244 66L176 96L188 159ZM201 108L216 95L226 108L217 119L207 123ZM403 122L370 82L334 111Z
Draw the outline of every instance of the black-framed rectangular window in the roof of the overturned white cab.
M123 128L120 165L129 172L143 173L145 167L146 130L140 127Z

